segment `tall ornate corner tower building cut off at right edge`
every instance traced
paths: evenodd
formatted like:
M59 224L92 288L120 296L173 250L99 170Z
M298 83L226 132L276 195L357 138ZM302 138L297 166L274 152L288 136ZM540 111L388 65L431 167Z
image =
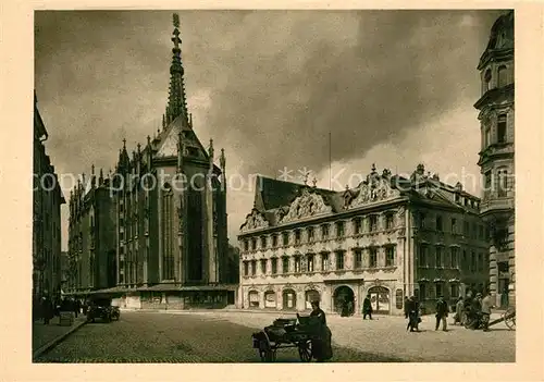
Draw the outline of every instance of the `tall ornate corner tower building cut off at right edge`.
M515 305L515 107L514 11L499 16L491 29L478 70L481 76L479 110L483 175L481 215L490 232L490 291L496 306Z

